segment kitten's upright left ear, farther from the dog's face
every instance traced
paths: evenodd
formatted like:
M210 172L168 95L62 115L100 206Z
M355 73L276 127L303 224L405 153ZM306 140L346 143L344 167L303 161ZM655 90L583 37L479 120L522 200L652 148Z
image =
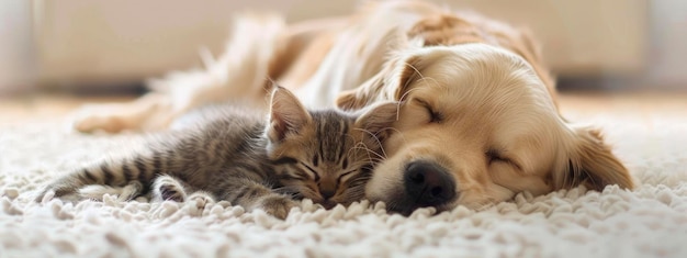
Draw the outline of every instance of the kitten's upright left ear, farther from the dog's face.
M270 102L270 120L267 131L272 142L281 142L312 121L311 114L291 91L275 87Z

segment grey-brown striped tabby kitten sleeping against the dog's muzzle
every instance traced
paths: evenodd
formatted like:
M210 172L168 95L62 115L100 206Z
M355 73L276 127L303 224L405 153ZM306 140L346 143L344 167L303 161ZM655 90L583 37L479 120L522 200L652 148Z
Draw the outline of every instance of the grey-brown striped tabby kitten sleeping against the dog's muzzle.
M131 200L151 188L154 199L202 203L226 200L284 218L293 200L331 207L363 199L372 166L383 158L381 139L396 119L396 103L362 114L307 111L278 87L269 120L237 106L210 106L182 128L149 137L128 158L80 168L49 183L36 201L76 195L89 184L128 189ZM172 126L173 128L173 126ZM187 195L188 192L195 192Z

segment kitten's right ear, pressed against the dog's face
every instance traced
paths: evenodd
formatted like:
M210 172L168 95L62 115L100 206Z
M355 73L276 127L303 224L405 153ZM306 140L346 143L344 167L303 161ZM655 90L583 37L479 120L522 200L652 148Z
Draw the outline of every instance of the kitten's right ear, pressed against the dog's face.
M398 102L385 101L360 111L356 126L384 138L398 117Z

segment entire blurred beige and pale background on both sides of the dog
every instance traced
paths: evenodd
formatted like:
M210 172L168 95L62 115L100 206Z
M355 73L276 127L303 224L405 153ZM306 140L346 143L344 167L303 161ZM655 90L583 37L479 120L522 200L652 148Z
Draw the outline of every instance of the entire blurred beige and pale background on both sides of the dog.
M530 27L563 90L687 91L685 0L442 0ZM223 51L230 15L350 13L349 0L2 0L0 94L139 92Z

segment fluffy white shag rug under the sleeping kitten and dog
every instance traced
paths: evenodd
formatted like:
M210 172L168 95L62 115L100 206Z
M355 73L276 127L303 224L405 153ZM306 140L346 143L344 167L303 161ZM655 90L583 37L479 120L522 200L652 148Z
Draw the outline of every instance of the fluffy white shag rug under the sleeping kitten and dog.
M684 112L684 111L683 111ZM568 112L571 113L571 112ZM0 126L0 257L687 257L687 117L572 112L605 128L639 182L409 217L381 204L316 210L286 221L227 203L31 201L59 171L135 136L80 135L64 120Z

